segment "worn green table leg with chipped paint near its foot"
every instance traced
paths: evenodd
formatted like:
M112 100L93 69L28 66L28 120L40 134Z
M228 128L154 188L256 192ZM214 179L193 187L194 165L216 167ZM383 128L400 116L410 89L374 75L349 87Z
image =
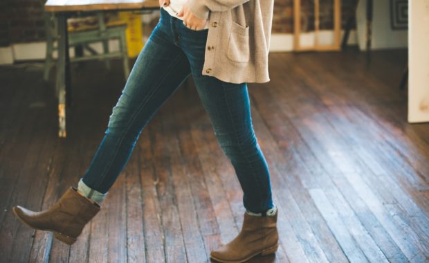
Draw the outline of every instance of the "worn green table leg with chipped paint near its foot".
M66 92L68 93L67 95L70 96L70 74L67 17L64 13L59 13L58 15L58 62L56 85L58 91L58 136L66 137Z

